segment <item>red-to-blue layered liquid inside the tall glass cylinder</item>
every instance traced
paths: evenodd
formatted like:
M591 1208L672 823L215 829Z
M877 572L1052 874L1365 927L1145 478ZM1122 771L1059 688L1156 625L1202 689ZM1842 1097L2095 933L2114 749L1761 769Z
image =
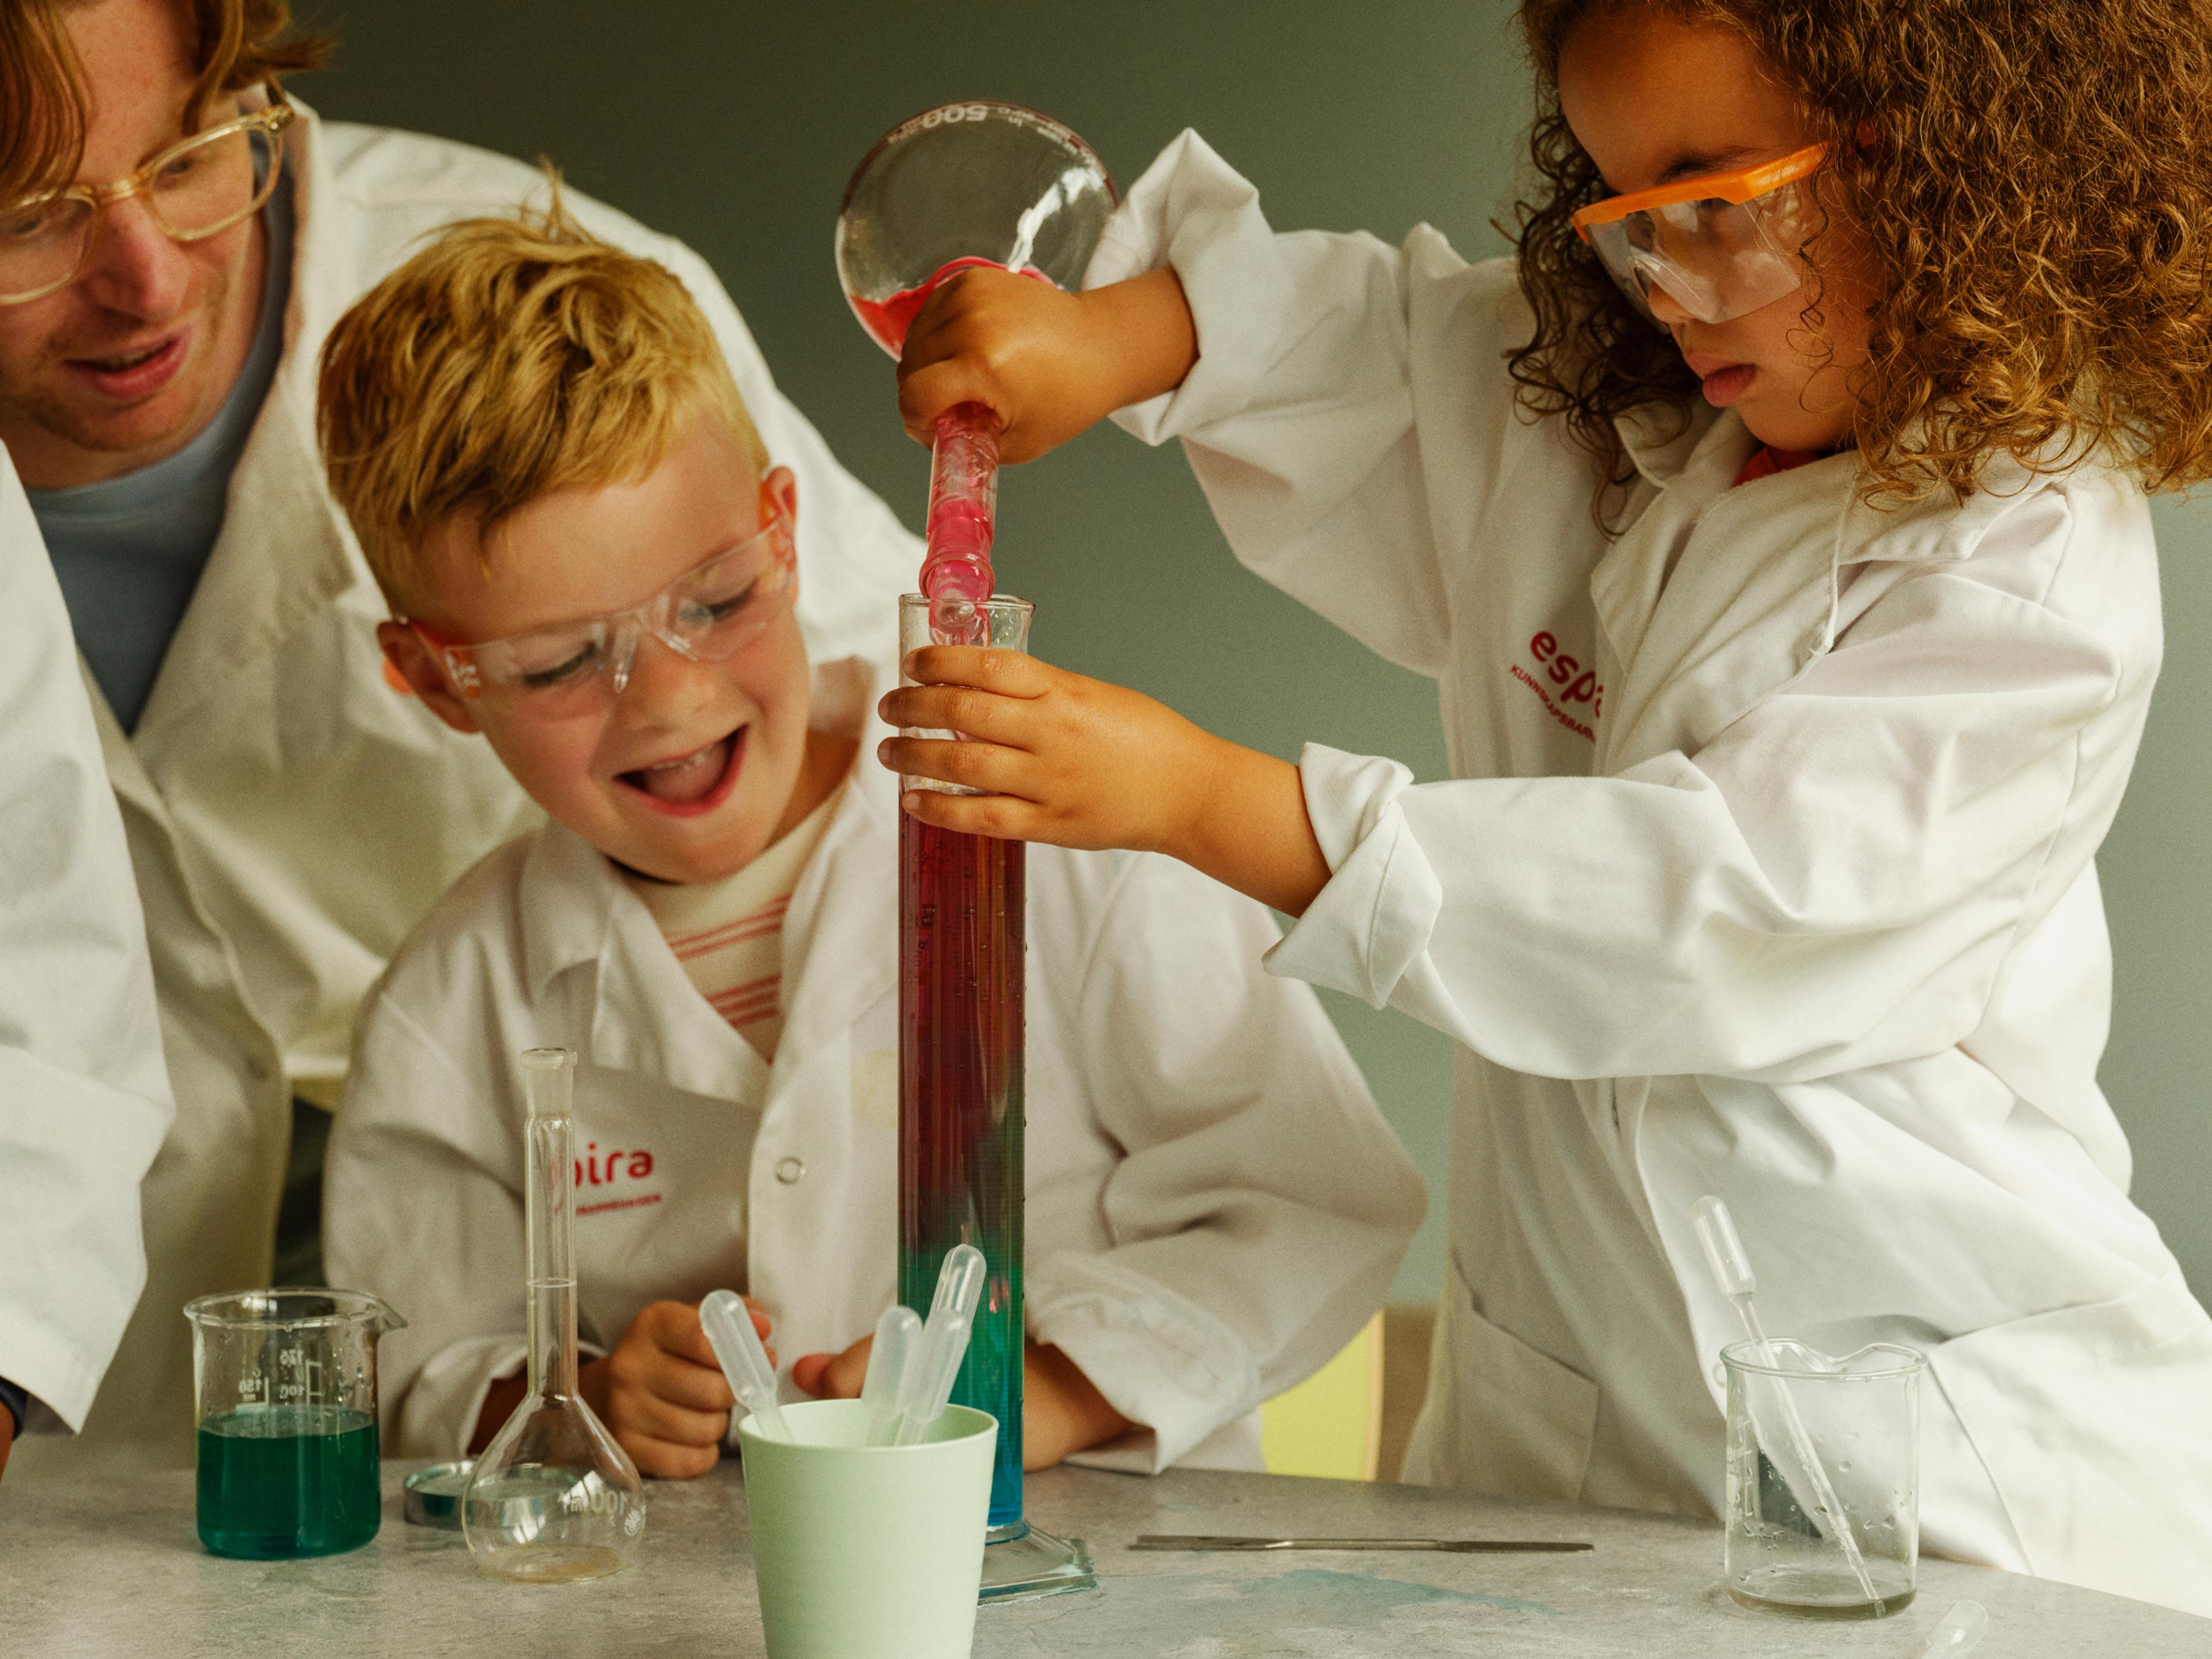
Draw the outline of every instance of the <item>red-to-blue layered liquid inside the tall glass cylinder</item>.
M1022 1520L1024 852L898 823L898 1298L958 1243L989 1279L953 1405L998 1418L991 1526Z

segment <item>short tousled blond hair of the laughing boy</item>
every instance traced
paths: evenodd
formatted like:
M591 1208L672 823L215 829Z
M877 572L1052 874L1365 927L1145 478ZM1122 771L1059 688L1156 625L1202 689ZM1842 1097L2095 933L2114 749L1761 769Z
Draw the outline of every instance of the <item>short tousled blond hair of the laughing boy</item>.
M555 489L628 482L686 416L768 449L684 283L562 210L467 219L372 288L323 345L316 425L330 489L392 606L431 524L467 515L480 551Z

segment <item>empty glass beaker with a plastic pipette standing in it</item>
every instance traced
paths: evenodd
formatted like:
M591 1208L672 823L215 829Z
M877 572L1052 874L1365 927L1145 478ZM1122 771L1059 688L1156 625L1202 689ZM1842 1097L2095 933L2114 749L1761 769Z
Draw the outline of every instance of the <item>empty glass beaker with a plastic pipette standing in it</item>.
M1809 1619L1880 1619L1911 1606L1920 1566L1920 1374L1927 1358L1874 1343L1829 1358L1776 1338L1721 1349L1728 1369L1728 1593ZM1792 1413L1803 1425L1798 1436ZM1840 1517L1814 1500L1809 1447ZM1836 1542L1849 1526L1865 1584ZM1867 1590L1874 1590L1871 1599Z

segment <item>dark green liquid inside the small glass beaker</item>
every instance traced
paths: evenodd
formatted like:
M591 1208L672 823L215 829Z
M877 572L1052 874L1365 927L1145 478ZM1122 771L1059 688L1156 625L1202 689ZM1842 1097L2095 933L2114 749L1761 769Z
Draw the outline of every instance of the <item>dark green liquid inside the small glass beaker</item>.
M199 1425L199 1542L217 1555L336 1555L376 1537L376 1418L248 1405Z

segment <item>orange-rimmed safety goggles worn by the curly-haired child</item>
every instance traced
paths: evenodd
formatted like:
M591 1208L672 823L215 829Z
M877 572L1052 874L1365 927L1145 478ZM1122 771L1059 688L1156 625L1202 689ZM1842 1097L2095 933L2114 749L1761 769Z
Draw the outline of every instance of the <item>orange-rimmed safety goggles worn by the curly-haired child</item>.
M1805 285L1803 248L1823 226L1809 181L1825 161L1827 146L1814 144L1754 168L1593 201L1573 223L1646 316L1659 290L1697 321L1725 323Z

